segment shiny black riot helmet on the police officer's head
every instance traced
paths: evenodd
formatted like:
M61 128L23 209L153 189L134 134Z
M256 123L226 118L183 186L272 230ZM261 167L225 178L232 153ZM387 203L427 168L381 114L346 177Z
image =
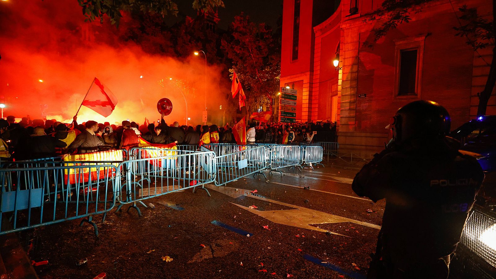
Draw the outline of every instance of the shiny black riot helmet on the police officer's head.
M414 101L401 107L386 129L393 130L395 141L441 139L449 133L448 111L433 101Z

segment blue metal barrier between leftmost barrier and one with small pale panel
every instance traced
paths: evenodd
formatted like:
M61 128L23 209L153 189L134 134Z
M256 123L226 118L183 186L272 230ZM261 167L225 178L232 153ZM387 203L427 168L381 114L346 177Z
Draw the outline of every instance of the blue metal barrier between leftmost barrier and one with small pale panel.
M137 204L146 208L143 203L146 199L188 188L201 187L210 196L204 185L215 180L213 152L156 148L136 148L134 151L136 156L142 158L119 165L121 173L124 173L124 182L123 190L118 193L118 211L124 205L130 205L127 210L134 208L141 216ZM156 157L154 154L163 156Z

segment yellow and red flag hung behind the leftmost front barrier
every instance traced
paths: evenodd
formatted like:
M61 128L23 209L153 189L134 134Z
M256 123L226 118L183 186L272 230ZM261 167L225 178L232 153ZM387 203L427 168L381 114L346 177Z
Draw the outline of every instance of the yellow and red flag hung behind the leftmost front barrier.
M66 163L65 166L84 166L84 165L102 165L102 164L113 164L118 166L120 162L123 161L123 151L122 150L106 150L97 151L90 153L81 154L64 154L62 156L64 161L75 162L80 161L81 163ZM84 161L93 163L84 163ZM101 163L96 163L94 161L101 161ZM115 169L111 167L85 167L85 168L69 168L65 170L65 183L75 184L76 181L79 183L96 181L97 178L104 179L107 177L114 177L116 175Z

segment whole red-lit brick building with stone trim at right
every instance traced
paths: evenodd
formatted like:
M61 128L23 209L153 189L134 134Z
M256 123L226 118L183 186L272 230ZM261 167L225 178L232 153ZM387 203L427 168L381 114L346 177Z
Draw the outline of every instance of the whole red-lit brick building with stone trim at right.
M380 22L364 18L381 2L284 0L281 87L298 90L297 121L336 121L340 149L361 156L384 146L384 127L408 102L440 103L453 129L475 118L492 60L491 48L474 52L453 29L458 7L492 17L492 1L430 1L373 43ZM496 114L494 96L487 114Z

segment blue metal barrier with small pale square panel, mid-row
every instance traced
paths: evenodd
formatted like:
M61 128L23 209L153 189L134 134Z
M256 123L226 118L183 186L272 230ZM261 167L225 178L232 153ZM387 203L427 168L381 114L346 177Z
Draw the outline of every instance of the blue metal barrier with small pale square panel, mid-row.
M226 185L244 176L261 172L268 165L266 146L236 144L205 144L202 150L215 150L215 185ZM266 179L266 177L265 177Z

